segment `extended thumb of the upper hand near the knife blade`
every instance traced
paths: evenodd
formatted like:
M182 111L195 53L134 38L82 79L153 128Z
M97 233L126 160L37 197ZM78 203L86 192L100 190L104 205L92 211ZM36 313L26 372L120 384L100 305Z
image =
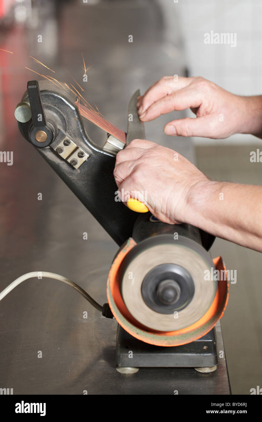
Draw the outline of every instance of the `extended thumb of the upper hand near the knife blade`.
M217 122L218 116L217 116ZM208 116L195 117L191 119L178 119L169 122L164 127L164 133L172 136L203 136L205 138L214 138L217 133L216 116L209 114Z

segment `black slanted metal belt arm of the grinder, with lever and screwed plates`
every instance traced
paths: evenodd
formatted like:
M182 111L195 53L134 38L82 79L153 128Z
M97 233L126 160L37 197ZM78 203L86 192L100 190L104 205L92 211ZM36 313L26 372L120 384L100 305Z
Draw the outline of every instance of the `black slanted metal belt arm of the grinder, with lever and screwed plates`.
M117 198L116 152L124 143L108 134L103 148L86 134L77 97L50 81L29 81L15 116L24 138L32 143L58 176L121 246L132 236L138 215ZM27 121L26 121L27 120Z

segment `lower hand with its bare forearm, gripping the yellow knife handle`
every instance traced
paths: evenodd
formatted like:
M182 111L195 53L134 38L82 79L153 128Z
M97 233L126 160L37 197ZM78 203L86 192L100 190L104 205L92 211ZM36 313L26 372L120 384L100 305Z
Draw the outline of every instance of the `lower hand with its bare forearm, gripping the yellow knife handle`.
M123 202L141 192L165 223L185 222L262 252L261 186L210 181L177 152L144 139L119 151L114 176Z

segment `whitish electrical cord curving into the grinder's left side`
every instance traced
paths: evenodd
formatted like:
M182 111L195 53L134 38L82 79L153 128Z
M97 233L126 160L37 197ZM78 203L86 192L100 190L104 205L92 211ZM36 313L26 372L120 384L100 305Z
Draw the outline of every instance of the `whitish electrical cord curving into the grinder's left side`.
M55 273L48 273L47 271L32 271L32 273L26 273L23 276L18 277L18 279L14 280L11 284L9 284L9 286L7 286L2 292L0 292L0 300L2 300L6 295L8 295L8 293L11 292L11 290L13 290L16 286L22 283L22 281L32 279L34 277L39 278L40 276L48 279L59 280L63 283L68 284L70 287L73 287L73 289L79 292L80 295L82 295L86 300L88 300L88 302L90 302L91 305L98 309L98 311L102 312L103 306L99 305L99 303L97 303L93 298L91 298L91 296L89 296L87 292L82 289L82 287L78 286L73 281L66 279L66 277L60 276L59 274Z

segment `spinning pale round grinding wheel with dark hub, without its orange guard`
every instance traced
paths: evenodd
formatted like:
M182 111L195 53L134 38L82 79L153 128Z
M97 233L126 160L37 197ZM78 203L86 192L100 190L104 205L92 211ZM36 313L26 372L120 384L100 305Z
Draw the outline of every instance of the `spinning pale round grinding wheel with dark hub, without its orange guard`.
M174 240L171 235L160 241L155 236L135 246L123 261L122 298L130 314L151 330L183 329L198 321L214 300L217 282L204 279L213 265L195 241L183 236ZM173 296L159 300L157 293L165 286Z

